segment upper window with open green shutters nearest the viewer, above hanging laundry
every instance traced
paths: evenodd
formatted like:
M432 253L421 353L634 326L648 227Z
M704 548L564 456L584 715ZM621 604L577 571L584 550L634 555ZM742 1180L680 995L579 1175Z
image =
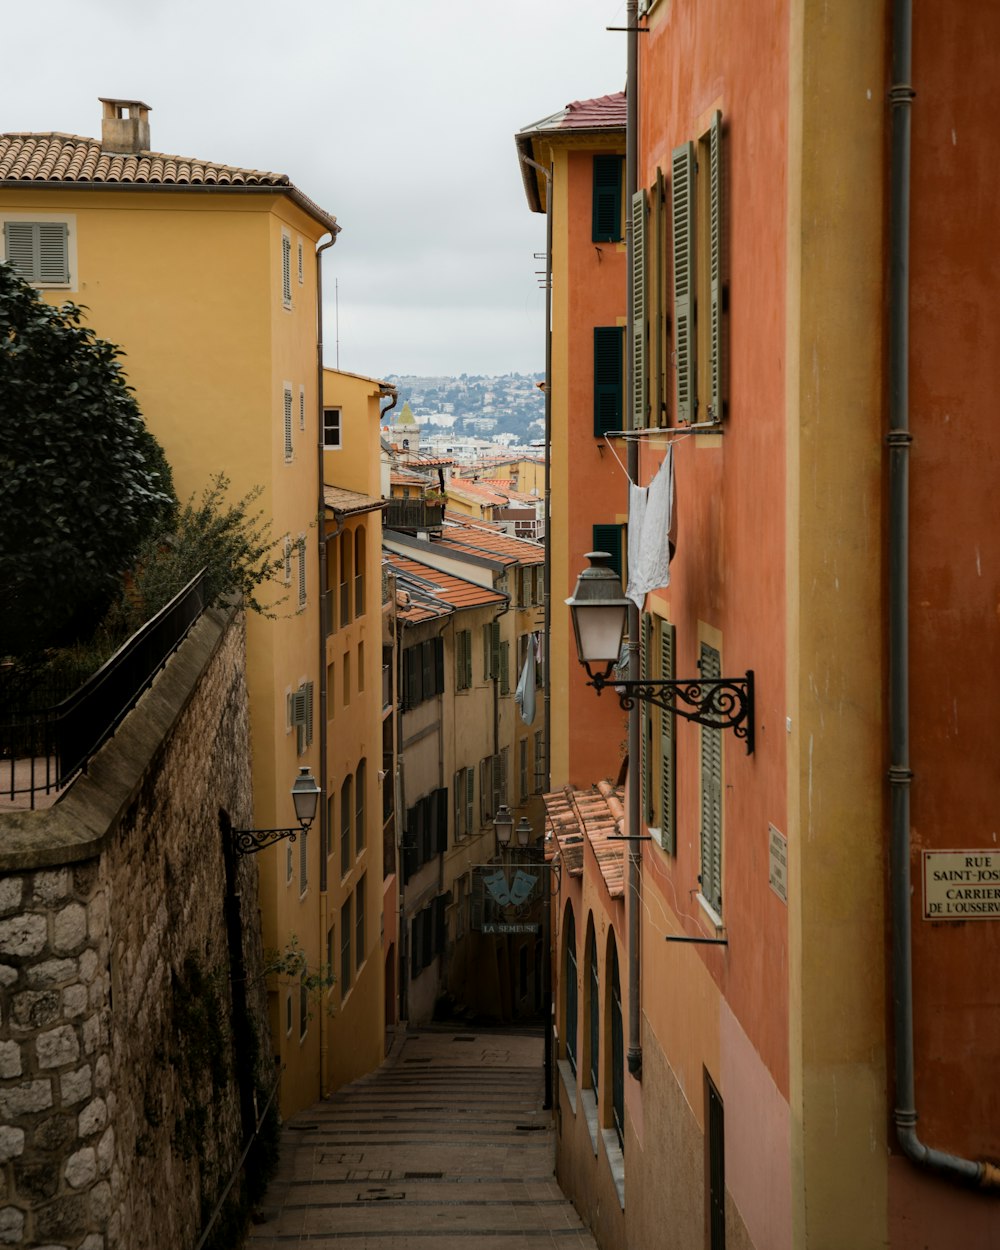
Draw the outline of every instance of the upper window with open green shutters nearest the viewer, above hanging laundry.
M719 422L725 415L722 116L698 141L671 154L676 418Z

